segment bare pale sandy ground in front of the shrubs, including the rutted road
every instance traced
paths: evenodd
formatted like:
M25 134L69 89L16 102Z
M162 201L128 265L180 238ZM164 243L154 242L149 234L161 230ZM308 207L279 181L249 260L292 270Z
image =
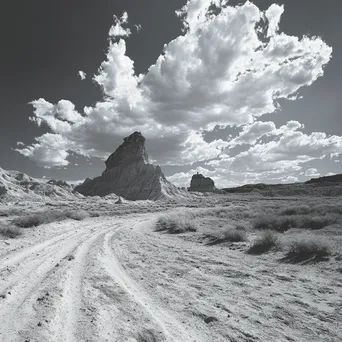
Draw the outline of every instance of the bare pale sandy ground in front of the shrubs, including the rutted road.
M155 232L157 217L67 220L0 240L0 341L342 340L334 268Z

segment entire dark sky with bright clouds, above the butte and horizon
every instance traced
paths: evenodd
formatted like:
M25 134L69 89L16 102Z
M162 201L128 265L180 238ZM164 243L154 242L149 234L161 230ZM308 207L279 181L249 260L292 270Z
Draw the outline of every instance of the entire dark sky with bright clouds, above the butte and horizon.
M339 0L4 0L0 167L95 177L134 131L178 186L341 173Z

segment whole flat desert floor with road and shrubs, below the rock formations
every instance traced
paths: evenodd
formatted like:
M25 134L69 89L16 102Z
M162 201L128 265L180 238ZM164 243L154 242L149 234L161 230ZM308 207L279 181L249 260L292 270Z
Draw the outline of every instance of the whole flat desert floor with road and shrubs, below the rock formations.
M0 340L341 341L342 200L0 203Z

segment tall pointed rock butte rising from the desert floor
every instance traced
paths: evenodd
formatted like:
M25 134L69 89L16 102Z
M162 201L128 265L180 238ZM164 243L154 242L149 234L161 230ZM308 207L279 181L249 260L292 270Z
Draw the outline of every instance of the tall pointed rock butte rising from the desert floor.
M111 193L128 200L156 200L179 190L166 180L160 166L149 164L145 138L134 132L109 156L100 177L87 178L75 191L85 196Z

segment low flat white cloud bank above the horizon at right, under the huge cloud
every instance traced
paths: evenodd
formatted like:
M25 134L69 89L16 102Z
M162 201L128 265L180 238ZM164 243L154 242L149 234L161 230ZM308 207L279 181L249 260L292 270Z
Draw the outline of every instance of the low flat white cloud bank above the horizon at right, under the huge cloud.
M293 173L299 175L303 165L309 161L342 154L341 136L317 132L305 134L300 129L303 126L299 122L289 121L270 132L275 135L275 140L257 143L234 157L230 157L229 150L226 150L220 158L207 162L207 165L216 169L220 179L225 179L229 170L230 176L235 173L241 179L253 174L260 180L265 176L268 179L279 178L279 175L295 177ZM311 168L305 175L316 171Z

